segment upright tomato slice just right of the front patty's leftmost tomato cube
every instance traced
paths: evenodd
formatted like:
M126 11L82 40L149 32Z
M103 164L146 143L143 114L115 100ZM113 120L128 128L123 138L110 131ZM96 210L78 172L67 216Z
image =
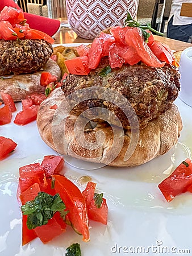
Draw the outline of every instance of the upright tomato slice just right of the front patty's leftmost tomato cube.
M103 53L103 43L101 42L101 40L99 40L99 38L95 38L93 40L93 43L91 44L91 48L89 49L89 53L88 53L88 58L89 58L88 67L90 69L95 69L98 67L102 57L102 53Z

